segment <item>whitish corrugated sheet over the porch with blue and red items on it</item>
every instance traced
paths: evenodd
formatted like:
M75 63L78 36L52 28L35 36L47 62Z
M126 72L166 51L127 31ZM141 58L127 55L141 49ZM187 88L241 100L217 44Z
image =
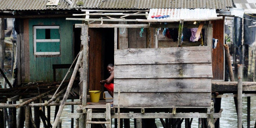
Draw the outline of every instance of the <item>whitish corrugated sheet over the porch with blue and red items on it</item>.
M168 15L169 17L154 18L157 15ZM150 9L148 13L148 20L202 19L214 17L217 17L215 9Z

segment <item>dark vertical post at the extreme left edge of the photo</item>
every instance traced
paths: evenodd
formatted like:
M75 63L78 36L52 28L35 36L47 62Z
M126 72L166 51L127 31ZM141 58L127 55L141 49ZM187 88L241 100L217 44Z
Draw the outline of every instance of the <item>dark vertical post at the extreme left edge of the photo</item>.
M4 43L4 18L0 18L0 68L4 69L5 43Z

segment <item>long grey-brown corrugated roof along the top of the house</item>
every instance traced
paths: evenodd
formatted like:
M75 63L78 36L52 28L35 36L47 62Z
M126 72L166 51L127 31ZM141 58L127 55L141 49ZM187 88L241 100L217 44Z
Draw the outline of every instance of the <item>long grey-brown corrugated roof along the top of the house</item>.
M69 5L60 0L58 6L46 6L48 0L0 0L0 10L60 10L60 9L225 9L232 7L232 0L72 0ZM81 6L76 3L82 2Z

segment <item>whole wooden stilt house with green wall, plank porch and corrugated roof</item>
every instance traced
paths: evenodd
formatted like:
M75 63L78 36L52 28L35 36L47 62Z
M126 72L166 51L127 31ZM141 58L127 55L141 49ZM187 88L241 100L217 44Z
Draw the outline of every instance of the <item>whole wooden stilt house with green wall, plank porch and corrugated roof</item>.
M13 11L2 17L15 18L18 84L61 81L68 71L62 68L79 55L66 79L74 81L79 72L81 106L69 116L81 128L111 127L111 118L119 126L135 119L138 128L155 125L157 118L173 127L207 118L213 128L221 113L213 110L212 80L224 81L225 66L224 18L216 11L229 7L232 0L0 0L0 10ZM109 63L115 65L113 107L91 105L88 91L106 90L99 81L108 77ZM93 120L99 118L105 120Z

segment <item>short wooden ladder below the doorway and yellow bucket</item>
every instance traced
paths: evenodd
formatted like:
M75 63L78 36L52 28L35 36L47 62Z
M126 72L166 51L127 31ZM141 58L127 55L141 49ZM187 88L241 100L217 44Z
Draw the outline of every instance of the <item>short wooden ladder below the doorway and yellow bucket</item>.
M106 128L111 128L110 103L106 104L106 121L92 121L92 109L87 110L86 128L90 128L91 124L106 124Z

